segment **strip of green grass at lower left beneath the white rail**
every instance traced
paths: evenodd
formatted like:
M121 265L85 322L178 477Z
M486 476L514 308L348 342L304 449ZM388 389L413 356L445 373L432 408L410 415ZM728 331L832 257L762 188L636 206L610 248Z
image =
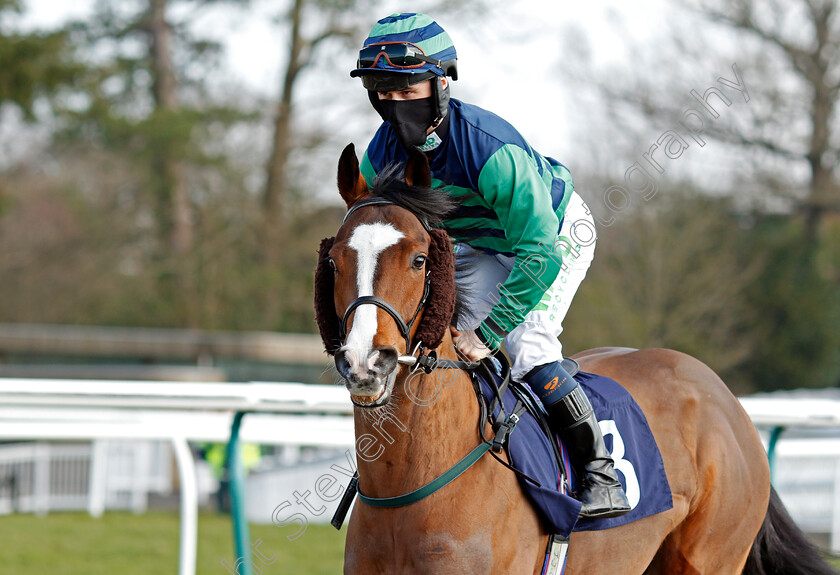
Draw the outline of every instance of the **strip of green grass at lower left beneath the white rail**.
M178 515L85 513L0 516L0 572L37 575L162 575L178 572ZM295 541L292 527L252 525L251 541L271 565L263 574L335 575L342 572L344 535L329 525L309 525ZM199 575L227 575L233 564L229 517L202 514L198 523ZM258 562L259 565L259 562Z

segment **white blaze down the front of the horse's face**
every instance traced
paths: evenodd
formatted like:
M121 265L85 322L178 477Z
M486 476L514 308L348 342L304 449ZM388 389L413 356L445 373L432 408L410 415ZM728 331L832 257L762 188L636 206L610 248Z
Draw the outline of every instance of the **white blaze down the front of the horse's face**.
M391 224L375 223L358 226L350 236L348 245L356 251L356 284L359 296L373 295L373 277L379 255L403 238L403 233ZM373 336L378 326L374 305L364 304L356 308L353 315L353 329L347 336L345 349L347 359L353 368L368 366L365 360L373 347ZM353 357L355 356L355 357Z

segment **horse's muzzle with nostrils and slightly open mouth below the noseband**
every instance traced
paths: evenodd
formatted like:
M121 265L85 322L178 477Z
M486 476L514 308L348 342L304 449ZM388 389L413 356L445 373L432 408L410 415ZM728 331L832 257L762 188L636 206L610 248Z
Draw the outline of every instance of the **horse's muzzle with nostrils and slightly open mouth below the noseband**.
M390 346L377 347L365 358L346 346L336 352L335 368L344 378L354 404L378 407L388 402L398 357L397 350Z

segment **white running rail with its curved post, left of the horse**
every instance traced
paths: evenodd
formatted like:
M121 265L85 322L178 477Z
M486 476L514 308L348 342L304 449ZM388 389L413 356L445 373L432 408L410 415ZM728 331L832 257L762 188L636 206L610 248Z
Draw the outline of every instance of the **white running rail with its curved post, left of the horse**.
M179 575L194 575L196 564L198 489L189 441L227 441L233 413L248 411L256 414L245 418L242 441L354 444L353 408L341 386L0 378L0 406L0 440L170 442L181 484Z

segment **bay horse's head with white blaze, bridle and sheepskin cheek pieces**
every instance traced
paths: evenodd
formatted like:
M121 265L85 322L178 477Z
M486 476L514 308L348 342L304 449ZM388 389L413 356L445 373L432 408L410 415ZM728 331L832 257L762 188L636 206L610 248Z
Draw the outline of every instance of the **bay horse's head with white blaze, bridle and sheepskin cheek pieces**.
M452 318L452 249L446 233L430 226L451 203L430 185L420 152L403 180L377 178L372 193L352 144L338 163L348 212L336 236L321 242L315 311L324 347L359 406L387 403L399 356L418 344L439 346ZM423 197L437 207L424 213Z

